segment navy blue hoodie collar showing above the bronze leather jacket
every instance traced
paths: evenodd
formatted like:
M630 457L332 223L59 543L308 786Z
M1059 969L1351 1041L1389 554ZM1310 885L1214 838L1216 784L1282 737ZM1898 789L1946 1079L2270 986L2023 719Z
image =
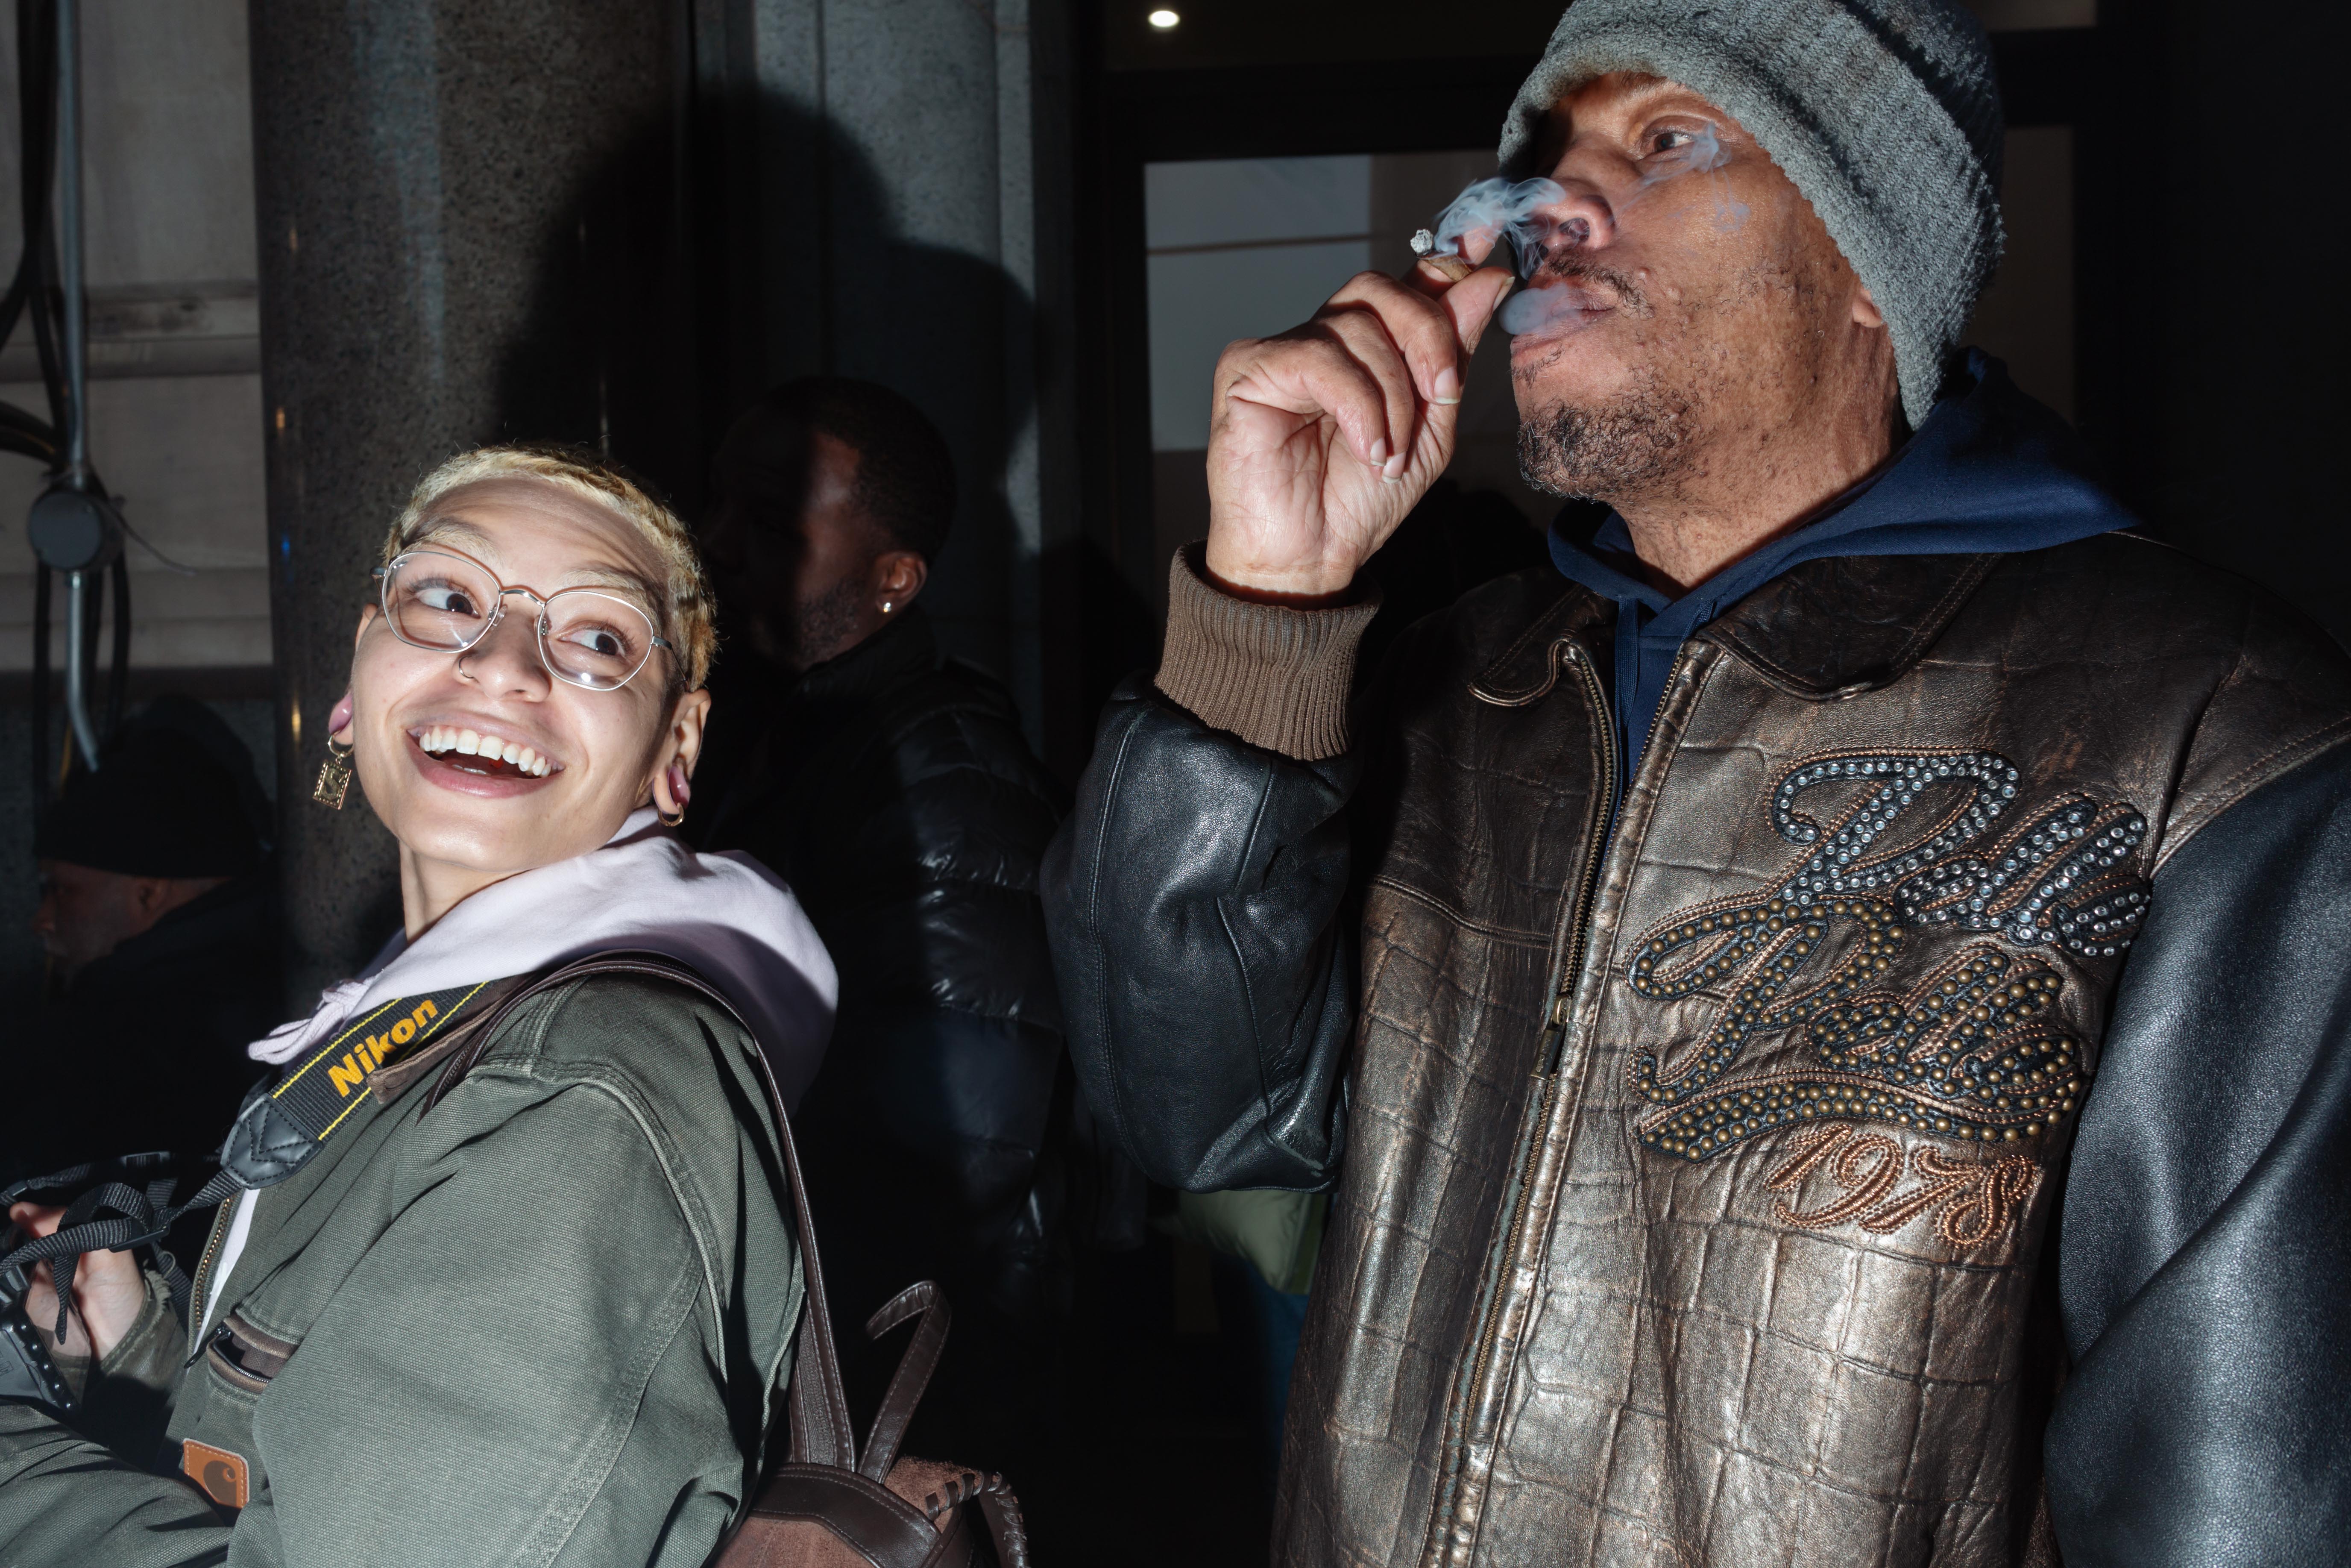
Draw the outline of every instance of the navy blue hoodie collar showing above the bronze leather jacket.
M1608 512L1589 548L1552 529L1552 559L1617 602L1615 710L1625 773L1648 743L1683 639L1789 567L1827 555L1982 555L2045 550L2137 520L2090 480L2074 428L2034 402L1982 348L1893 463L1827 515L1775 538L1679 599L1603 557L1632 559L1632 531Z

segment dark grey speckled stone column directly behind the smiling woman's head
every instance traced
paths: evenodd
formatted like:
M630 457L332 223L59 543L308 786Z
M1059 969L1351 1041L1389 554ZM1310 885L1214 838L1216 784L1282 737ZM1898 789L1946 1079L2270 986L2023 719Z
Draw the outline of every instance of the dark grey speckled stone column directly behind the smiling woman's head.
M691 503L686 16L647 0L252 0L289 1001L397 926L360 792L310 804L416 480L569 440Z

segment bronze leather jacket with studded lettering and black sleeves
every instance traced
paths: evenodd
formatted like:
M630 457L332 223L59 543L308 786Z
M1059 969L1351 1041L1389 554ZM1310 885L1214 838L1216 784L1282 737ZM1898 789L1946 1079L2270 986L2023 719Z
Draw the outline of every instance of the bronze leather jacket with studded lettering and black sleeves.
M1620 790L1610 602L1491 583L1349 731L1364 618L1180 559L1046 863L1126 1150L1333 1187L1277 1563L2335 1554L2332 642L2125 534L1817 559Z

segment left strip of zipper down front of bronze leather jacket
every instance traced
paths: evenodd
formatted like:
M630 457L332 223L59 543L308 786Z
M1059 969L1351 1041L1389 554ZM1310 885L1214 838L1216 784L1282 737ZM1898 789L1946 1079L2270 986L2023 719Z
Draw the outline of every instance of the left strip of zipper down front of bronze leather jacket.
M1563 663L1575 665L1575 672L1582 677L1585 696L1592 701L1592 717L1601 736L1599 809L1592 813L1582 875L1575 882L1575 896L1568 905L1568 940L1561 952L1556 980L1552 983L1549 1013L1545 1016L1542 1065L1535 1072L1535 1084L1542 1088L1528 1105L1528 1121L1519 1128L1519 1147L1512 1152L1509 1185L1502 1190L1507 1225L1502 1229L1502 1248L1493 1255L1493 1288L1486 1300L1479 1302L1476 1349L1469 1359L1469 1375L1458 1380L1453 1389L1453 1410L1446 1420L1446 1432L1455 1436L1451 1453L1446 1453L1446 1462L1439 1469L1422 1563L1448 1563L1453 1559L1446 1537L1451 1535L1448 1516L1455 1514L1460 1483L1469 1467L1469 1443L1474 1436L1469 1432L1469 1403L1476 1399L1493 1371L1493 1352L1502 1335L1507 1274L1512 1260L1526 1246L1528 1180L1535 1173L1535 1152L1542 1147L1542 1128L1549 1126L1552 1107L1559 1098L1559 1063L1568 1041L1568 1013L1575 1004L1575 978L1582 973L1585 947L1592 940L1592 903L1599 896L1599 875L1608 858L1608 839L1615 837L1617 778L1622 776L1615 715L1608 708L1608 693L1601 686L1599 670L1592 668L1592 658L1585 654L1582 644L1568 642L1561 658ZM1672 691L1672 677L1667 682L1667 691Z

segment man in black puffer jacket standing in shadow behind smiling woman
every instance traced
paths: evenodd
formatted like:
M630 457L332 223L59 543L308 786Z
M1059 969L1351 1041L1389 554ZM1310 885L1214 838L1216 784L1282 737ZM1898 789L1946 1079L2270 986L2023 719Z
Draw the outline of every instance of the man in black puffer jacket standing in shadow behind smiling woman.
M851 1406L863 1429L898 1356L858 1326L938 1279L955 1331L910 1441L1018 1483L1070 1293L1037 900L1060 792L1011 696L912 604L955 510L915 404L790 381L729 430L712 491L726 654L686 837L790 882L842 973L797 1131Z

